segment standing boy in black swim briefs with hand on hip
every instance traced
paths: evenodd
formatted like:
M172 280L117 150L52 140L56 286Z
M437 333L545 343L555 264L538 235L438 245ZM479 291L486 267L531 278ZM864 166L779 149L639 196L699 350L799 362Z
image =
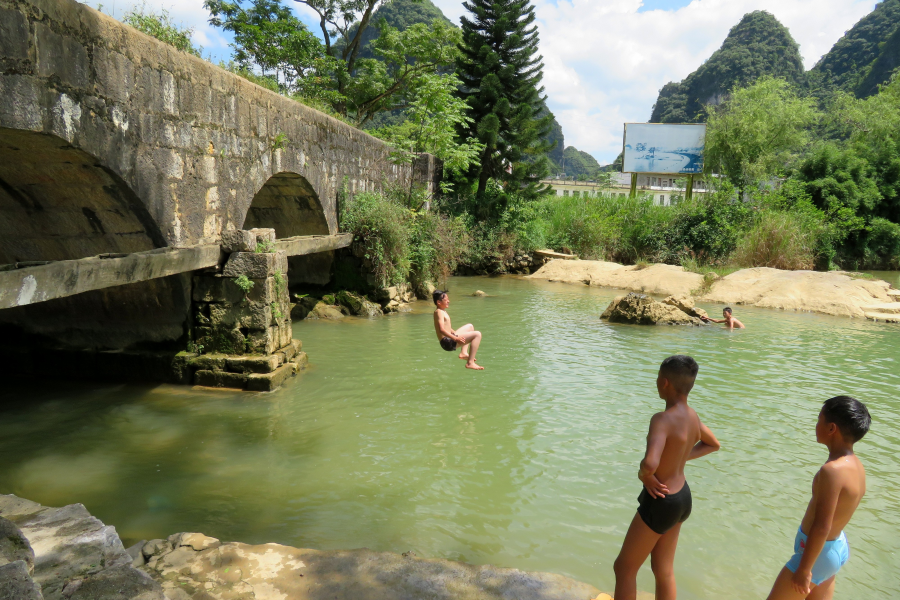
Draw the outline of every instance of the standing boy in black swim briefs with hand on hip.
M650 419L647 452L638 479L644 484L638 510L616 559L616 600L635 600L637 573L647 556L657 600L675 599L675 549L681 524L691 515L691 489L684 464L719 449L719 441L687 399L699 366L690 356L670 356L656 378L666 410Z

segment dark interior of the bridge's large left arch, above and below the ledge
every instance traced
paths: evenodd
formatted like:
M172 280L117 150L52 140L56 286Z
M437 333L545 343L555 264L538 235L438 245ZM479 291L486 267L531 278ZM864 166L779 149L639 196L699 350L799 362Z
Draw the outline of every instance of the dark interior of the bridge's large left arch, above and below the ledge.
M0 265L165 246L145 205L95 156L55 135L0 128ZM0 338L10 346L175 345L189 309L190 277L162 277L2 310Z

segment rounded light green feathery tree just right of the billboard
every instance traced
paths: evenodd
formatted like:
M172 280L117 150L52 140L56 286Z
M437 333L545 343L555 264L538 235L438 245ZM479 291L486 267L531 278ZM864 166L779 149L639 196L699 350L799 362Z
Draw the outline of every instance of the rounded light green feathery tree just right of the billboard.
M708 107L705 168L724 175L743 194L750 186L782 175L810 141L809 127L821 114L784 79L763 77L734 89Z

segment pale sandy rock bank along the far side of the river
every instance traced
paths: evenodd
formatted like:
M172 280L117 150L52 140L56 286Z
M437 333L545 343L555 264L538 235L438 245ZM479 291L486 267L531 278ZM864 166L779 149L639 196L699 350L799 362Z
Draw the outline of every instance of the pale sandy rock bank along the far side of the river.
M639 268L593 260L553 260L529 277L660 296L695 295L703 283L701 275L673 265ZM718 279L697 299L873 318L873 315L900 313L900 302L897 302L900 297L889 294L890 289L886 281L857 279L838 271L781 271L760 267L742 269Z

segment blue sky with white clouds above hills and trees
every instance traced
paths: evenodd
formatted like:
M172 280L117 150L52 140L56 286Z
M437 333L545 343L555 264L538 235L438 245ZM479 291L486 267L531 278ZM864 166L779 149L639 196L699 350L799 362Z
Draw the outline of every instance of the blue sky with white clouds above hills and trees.
M461 0L433 0L454 22ZM566 145L612 162L622 147L622 124L644 122L659 89L700 66L729 29L754 10L767 10L800 44L812 67L875 0L533 0L544 56L544 85ZM295 10L316 33L313 13ZM97 0L89 2L97 7ZM204 56L227 60L229 38L211 27L203 0L107 0L103 12L121 18L137 5L165 8L194 29Z

